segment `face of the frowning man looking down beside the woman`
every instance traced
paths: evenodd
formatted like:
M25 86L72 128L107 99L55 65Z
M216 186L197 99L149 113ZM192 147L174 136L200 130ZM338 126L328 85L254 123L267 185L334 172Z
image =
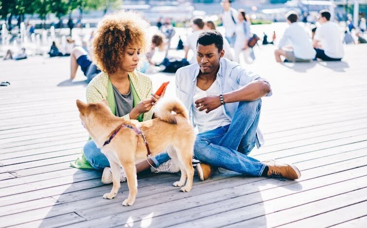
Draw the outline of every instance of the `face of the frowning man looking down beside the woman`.
M224 50L218 51L215 44L201 45L196 48L196 60L200 66L202 74L210 74L217 70L220 58L224 56Z

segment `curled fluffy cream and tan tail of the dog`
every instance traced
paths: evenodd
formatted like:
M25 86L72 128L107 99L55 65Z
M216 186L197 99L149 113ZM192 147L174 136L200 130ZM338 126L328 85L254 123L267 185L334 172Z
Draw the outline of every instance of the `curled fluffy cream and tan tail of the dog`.
M167 123L177 124L176 118L172 114L172 111L188 119L186 108L177 98L161 98L155 105L154 114L156 117Z

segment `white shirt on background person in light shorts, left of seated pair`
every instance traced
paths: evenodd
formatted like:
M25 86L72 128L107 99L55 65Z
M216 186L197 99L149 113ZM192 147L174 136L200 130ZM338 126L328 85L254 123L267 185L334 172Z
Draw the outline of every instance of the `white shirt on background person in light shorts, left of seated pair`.
M283 37L279 41L278 48L282 48L288 44L293 47L294 56L298 59L313 59L316 51L312 47L311 40L299 23L292 23L284 32Z

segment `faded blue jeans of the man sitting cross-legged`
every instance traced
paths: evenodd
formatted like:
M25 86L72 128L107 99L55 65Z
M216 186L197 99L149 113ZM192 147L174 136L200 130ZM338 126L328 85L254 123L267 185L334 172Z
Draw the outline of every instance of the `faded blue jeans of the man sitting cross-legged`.
M261 99L239 102L231 124L197 135L194 157L203 163L250 176L261 176L265 164L247 155L255 147Z

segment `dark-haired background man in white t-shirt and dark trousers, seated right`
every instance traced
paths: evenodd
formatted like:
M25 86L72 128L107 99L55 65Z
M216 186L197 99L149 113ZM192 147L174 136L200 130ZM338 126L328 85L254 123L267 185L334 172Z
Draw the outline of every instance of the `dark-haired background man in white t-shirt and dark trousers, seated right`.
M330 12L321 10L318 21L321 26L316 29L313 37L313 48L316 58L324 61L340 61L344 57L343 40L339 26L330 21Z

